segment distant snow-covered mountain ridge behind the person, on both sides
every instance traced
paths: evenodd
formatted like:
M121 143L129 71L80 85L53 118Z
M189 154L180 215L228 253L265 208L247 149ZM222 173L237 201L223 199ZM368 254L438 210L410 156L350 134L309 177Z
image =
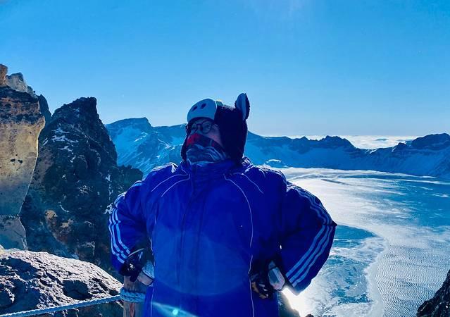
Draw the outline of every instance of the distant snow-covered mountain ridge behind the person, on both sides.
M181 161L184 125L153 127L146 118L106 125L118 152L118 165L130 165L144 175L155 166ZM450 135L427 135L395 147L358 149L341 137L320 140L263 137L249 132L245 155L254 164L272 167L379 170L450 178Z

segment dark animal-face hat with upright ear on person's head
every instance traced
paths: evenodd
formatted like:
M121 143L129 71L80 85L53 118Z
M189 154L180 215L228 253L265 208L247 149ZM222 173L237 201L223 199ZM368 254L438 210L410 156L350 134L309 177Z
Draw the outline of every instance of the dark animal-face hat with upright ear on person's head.
M247 137L247 123L249 118L250 103L247 95L239 94L235 101L235 106L225 106L220 101L204 99L191 107L187 113L188 125L192 120L198 118L209 118L214 120L220 131L223 149L230 158L237 163L244 156L244 147ZM186 136L187 139L187 136ZM181 157L186 159L186 139L181 148Z

